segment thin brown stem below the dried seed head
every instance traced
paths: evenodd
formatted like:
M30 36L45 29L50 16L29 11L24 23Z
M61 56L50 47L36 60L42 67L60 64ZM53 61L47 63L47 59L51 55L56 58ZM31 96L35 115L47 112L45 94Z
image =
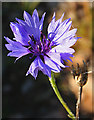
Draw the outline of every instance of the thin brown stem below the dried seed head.
M79 86L78 101L77 101L77 104L76 104L76 120L79 120L79 112L80 112L80 105L81 105L81 95L82 95L82 86Z

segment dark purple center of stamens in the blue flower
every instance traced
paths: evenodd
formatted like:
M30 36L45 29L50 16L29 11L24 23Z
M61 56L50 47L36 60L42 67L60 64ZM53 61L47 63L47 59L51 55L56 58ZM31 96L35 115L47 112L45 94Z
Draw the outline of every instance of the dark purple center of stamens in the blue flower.
M33 35L29 35L29 37L31 40L28 41L27 48L34 56L44 56L52 47L52 42L46 39L42 33L39 41L36 41Z

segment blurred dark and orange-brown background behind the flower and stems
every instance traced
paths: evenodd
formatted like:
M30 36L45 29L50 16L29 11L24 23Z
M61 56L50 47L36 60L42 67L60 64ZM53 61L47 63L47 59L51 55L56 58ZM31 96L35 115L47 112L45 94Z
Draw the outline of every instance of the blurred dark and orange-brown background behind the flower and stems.
M71 18L72 29L77 28L78 39L73 46L76 50L70 61L65 62L70 66L77 63L80 66L83 60L88 63L88 70L92 70L92 56L94 55L94 35L92 17L94 5L90 2L5 2L2 3L2 117L3 118L68 118L67 112L60 104L54 94L47 76L39 72L35 80L31 75L25 76L32 60L24 56L14 63L15 58L7 57L8 50L5 48L7 43L4 36L12 39L13 33L10 29L10 22L15 18L23 19L24 10L32 15L34 9L38 10L39 17L46 12L43 33L47 34L47 26L52 19L54 11L56 20L61 17L63 20ZM93 49L92 49L93 48ZM55 74L56 84L63 99L75 114L77 102L78 86L69 68L63 69ZM88 75L88 82L83 87L81 101L81 118L92 118L92 74Z

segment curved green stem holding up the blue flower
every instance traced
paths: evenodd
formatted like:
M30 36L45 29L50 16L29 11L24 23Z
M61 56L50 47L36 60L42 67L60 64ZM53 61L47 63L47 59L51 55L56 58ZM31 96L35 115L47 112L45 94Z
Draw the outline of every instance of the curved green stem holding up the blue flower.
M74 114L71 112L71 110L69 109L69 107L67 106L67 104L64 102L63 98L61 97L58 88L56 86L55 83L55 78L54 78L54 73L51 74L51 78L49 78L50 84L56 94L56 96L58 97L58 99L60 100L61 104L63 105L63 107L66 109L66 111L68 112L68 117L70 117L72 120L76 120L76 117L74 116Z

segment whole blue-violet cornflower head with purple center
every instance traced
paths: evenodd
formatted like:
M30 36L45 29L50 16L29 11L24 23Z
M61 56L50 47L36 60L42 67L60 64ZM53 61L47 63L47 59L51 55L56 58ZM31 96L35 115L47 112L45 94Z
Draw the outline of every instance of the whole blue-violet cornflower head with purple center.
M48 37L42 33L45 13L39 20L38 12L35 9L32 17L24 11L24 20L16 18L17 22L11 22L10 27L14 38L10 40L4 37L9 44L6 48L11 51L8 56L16 57L16 60L24 55L31 54L34 61L31 63L26 75L31 74L35 79L38 71L51 77L51 71L60 72L65 68L64 60L70 60L73 57L74 49L70 48L75 44L78 37L75 37L77 29L72 29L70 18L62 22L64 14L55 21L55 13L52 21L48 25Z

